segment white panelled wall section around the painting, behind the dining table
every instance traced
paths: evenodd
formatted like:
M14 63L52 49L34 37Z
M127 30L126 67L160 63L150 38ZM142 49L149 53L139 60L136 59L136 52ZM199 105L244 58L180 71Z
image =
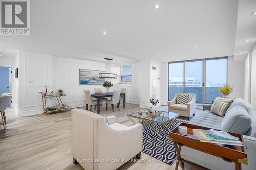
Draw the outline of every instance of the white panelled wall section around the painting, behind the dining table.
M63 101L70 107L81 107L85 105L83 90L88 89L94 93L94 88L106 89L102 85L79 85L79 68L105 71L104 62L94 62L85 60L74 60L61 57L53 57L52 86L50 90L62 89L67 96L62 97ZM119 67L111 65L111 72L119 72ZM119 89L119 79L105 79L111 81L114 89Z

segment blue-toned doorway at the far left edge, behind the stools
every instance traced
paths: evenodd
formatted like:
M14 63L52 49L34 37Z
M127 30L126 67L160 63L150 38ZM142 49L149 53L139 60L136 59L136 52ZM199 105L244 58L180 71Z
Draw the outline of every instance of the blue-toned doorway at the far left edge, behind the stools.
M0 66L0 95L3 93L12 93L11 84L12 84L12 69L11 67L1 67ZM11 106L11 102L9 106Z

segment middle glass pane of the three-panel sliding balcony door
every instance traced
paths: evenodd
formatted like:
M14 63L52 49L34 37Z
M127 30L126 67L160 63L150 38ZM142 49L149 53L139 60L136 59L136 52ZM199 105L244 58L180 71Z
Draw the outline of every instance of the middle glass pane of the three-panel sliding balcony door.
M185 93L195 93L196 103L203 103L203 61L185 62Z

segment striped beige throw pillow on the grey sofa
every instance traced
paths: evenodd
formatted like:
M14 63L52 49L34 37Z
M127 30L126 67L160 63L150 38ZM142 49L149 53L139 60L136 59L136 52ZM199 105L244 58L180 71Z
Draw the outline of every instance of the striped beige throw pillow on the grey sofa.
M225 113L229 107L229 105L233 102L233 99L226 99L217 97L212 104L210 111L215 113L221 117L225 116Z

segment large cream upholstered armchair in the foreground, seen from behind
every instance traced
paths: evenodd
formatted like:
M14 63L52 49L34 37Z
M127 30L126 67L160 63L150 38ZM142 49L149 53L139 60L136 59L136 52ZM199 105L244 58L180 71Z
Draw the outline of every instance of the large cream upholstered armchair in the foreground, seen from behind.
M72 109L72 155L86 170L113 170L142 151L142 125L127 127L106 117Z

